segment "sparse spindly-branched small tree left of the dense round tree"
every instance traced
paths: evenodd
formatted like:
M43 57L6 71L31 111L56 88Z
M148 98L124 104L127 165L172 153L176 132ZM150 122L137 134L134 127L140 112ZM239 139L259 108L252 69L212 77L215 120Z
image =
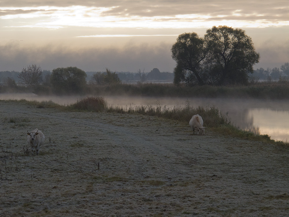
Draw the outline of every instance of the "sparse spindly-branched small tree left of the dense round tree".
M29 65L19 73L20 83L26 87L34 87L42 82L42 69L37 65Z

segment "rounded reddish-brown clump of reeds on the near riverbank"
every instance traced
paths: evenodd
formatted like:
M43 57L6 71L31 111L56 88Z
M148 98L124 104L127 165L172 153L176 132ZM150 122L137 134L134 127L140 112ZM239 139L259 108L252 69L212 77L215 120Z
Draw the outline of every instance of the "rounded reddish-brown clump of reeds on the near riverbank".
M76 111L103 112L108 106L103 97L85 97L77 100L76 103L71 104L69 107Z

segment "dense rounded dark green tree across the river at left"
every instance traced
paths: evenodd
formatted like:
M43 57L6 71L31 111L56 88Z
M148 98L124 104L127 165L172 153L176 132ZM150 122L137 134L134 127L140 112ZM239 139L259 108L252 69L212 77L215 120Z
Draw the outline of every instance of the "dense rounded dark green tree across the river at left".
M57 68L52 70L50 82L57 93L81 93L86 85L85 71L77 67Z

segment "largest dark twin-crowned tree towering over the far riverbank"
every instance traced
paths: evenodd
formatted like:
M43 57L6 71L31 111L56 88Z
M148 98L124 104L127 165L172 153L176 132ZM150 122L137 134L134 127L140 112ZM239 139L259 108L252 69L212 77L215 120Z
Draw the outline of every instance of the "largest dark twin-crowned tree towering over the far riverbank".
M242 29L214 26L203 38L196 33L179 35L173 45L174 83L246 84L259 62L252 39Z

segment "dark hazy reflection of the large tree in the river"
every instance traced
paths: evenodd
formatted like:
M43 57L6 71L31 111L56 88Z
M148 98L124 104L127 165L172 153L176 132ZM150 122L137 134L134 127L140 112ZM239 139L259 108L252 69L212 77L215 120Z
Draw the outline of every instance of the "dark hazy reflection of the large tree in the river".
M253 125L254 117L252 115L249 116L249 109L232 110L227 115L234 126L257 135L260 134L259 127Z

